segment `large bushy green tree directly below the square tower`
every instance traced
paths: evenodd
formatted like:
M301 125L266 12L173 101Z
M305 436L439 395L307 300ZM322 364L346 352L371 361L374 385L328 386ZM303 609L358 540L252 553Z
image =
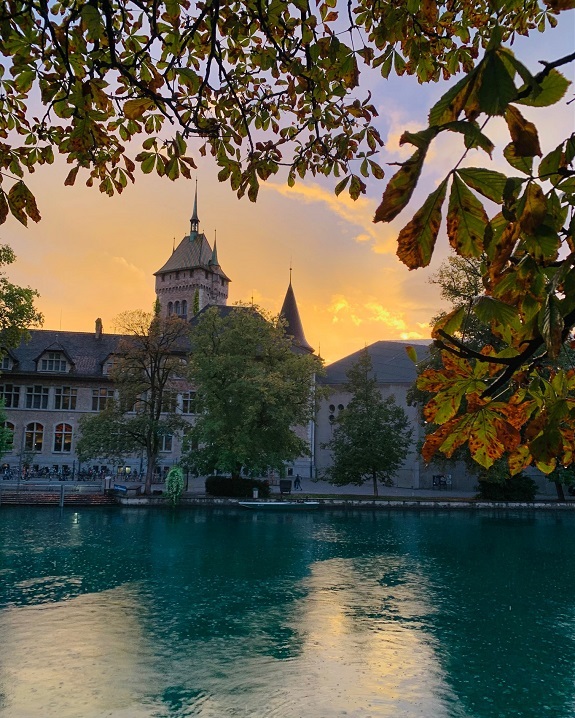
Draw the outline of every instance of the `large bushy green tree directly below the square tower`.
M188 441L200 474L283 473L309 453L297 427L313 420L321 363L294 351L281 319L257 306L211 307L193 326L192 346L199 417Z

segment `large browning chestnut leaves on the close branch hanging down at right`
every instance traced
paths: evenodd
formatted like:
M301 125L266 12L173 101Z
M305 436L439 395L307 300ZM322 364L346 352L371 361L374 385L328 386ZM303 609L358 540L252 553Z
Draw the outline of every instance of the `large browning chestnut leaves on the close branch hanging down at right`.
M416 149L389 181L375 221L390 222L407 207L438 136L462 137L461 158L398 237L399 258L410 269L427 266L445 212L453 251L477 261L482 280L482 292L433 329L443 366L417 382L432 395L424 416L436 426L424 458L437 451L451 457L467 445L486 468L506 457L512 473L530 464L549 473L573 461L575 368L559 357L575 324L575 135L543 156L540 133L523 113L566 96L570 83L557 68L575 53L534 75L503 37L497 28L474 68L431 108L426 129L403 135L402 144ZM508 174L463 163L472 149L492 156L495 117L509 133L502 149ZM489 328L497 350L466 341L470 314Z

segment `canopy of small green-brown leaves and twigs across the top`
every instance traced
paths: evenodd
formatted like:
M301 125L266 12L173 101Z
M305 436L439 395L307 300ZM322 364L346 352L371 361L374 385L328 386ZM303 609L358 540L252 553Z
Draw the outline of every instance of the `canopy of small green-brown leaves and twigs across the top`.
M370 73L428 82L463 71L472 84L457 106L500 110L511 81L486 88L513 61L495 47L479 70L490 38L544 30L569 4L510 0L495 17L489 0L457 11L435 0L10 0L0 10L0 222L39 220L25 174L55 150L71 165L65 184L81 176L110 195L137 167L174 180L209 153L220 180L251 200L282 167L289 184L341 177L336 192L357 198L366 178L383 177L362 88Z

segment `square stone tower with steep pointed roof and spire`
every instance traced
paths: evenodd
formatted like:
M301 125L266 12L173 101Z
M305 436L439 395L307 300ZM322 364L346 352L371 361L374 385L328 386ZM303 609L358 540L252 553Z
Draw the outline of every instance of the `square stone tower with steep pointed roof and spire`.
M162 317L177 315L191 319L194 307L199 311L208 304L227 304L230 279L220 267L215 240L212 248L206 235L200 232L197 180L190 233L154 275Z

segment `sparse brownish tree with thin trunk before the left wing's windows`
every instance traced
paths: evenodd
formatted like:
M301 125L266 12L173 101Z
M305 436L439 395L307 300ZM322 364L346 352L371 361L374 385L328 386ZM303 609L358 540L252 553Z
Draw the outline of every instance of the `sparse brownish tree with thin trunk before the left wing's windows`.
M117 324L124 336L110 378L118 398L82 420L77 451L82 460L143 451L149 494L162 442L187 426L176 411L176 392L187 386L189 326L175 316L142 311L125 312Z

